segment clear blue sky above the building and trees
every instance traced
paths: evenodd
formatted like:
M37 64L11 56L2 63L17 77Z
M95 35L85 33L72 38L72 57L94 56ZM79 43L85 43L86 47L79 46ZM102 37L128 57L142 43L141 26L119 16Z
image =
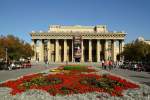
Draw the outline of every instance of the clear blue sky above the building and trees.
M51 24L107 25L125 31L126 42L150 40L150 0L0 0L0 35L30 42L29 32Z

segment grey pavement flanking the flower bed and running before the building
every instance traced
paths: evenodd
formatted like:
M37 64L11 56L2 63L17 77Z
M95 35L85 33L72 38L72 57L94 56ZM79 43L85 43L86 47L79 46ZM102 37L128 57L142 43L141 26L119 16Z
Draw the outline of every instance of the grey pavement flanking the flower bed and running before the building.
M74 63L69 63L69 64L74 64ZM95 67L100 68L98 63L76 63L76 64L84 64L84 65L95 66ZM57 64L51 63L49 65L43 64L43 63L41 63L41 64L34 63L31 68L16 69L16 70L11 70L11 71L0 70L0 81L6 81L8 79L15 79L22 75L41 72L43 70L46 70L49 68L55 68L60 65L65 65L65 63L57 63ZM150 86L150 72L137 72L137 71L131 71L131 70L119 69L119 68L112 69L109 72L117 74L117 75L121 75L121 76L129 78L133 81Z

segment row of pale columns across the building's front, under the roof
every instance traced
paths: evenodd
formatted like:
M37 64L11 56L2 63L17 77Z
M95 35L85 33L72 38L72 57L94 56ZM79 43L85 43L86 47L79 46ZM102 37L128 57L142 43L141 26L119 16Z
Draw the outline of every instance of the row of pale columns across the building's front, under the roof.
M60 41L60 39L53 39L54 42L52 43L52 39L49 39L47 40L46 45L45 45L44 40L41 39L41 40L38 40L39 44L37 47L37 44L36 44L37 39L33 39L32 47L33 47L33 50L35 51L35 54L32 60L39 60L40 62L43 62L45 60L47 60L48 62L66 62L66 61L74 62L73 40L72 39L70 39L70 41L68 40L69 39L61 39ZM123 46L124 46L123 40L88 39L88 44L86 44L84 40L85 39L81 40L81 60L80 60L81 62L86 61L85 56L88 56L87 58L89 62L100 62L100 60L116 61L116 56L117 56L116 48L118 47L119 53L123 51ZM96 42L93 42L93 40ZM116 44L117 41L119 42L118 46ZM96 43L96 47L95 47L96 55L93 55L92 45L94 43ZM88 55L85 55L84 53L85 45L87 45L88 47L87 49ZM46 48L46 52L45 52L45 48ZM45 57L46 54L47 56ZM93 61L92 56L96 57L96 61ZM111 58L109 58L109 56L111 56ZM69 60L69 58L71 59Z

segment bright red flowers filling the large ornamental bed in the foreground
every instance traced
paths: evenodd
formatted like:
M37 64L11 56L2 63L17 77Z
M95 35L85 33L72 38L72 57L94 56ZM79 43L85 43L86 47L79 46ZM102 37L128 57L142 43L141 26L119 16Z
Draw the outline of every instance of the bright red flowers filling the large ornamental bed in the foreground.
M63 66L62 66L63 67ZM89 67L92 68L92 67ZM93 72L94 69L88 69L87 72ZM34 80L33 79L39 80ZM58 79L54 80L53 84L46 83L45 85L38 84L40 81L44 81L42 79L45 79L45 82L49 82L51 79ZM94 81L91 85L89 84L81 84L80 80L86 79L86 78L93 78ZM95 83L95 81L100 80L101 78L107 78L107 80L114 80L116 83L113 84L111 89L105 89L105 87L98 87L101 85L101 83ZM41 80L40 80L41 79ZM60 80L61 81L60 81ZM58 82L59 81L59 82ZM106 80L105 80L106 81ZM104 81L104 82L105 82ZM109 82L114 82L109 81ZM56 84L55 84L56 82ZM25 84L26 83L26 84ZM119 85L118 85L119 84ZM121 84L121 85L120 85ZM122 85L123 84L123 85ZM139 88L138 85L128 82L125 79L122 79L120 77L116 77L113 75L107 75L105 77L96 75L96 74L82 74L81 72L77 70L72 70L71 73L65 74L65 73L58 73L58 74L49 74L46 76L43 76L42 74L31 74L23 76L15 81L7 81L5 83L0 84L0 87L10 87L12 88L11 94L15 95L17 93L22 93L26 91L26 87L28 89L39 89L47 91L50 95L56 95L56 94L73 94L73 93L87 93L87 92L107 92L110 93L112 96L122 96L121 92L124 89L129 88Z

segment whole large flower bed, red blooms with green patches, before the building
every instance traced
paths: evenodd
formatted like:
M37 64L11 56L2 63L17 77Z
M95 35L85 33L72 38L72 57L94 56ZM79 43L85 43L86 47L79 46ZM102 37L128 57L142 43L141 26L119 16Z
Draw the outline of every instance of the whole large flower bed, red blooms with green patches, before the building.
M86 69L86 70L85 70ZM58 73L39 73L23 76L17 80L7 81L0 87L12 88L11 94L16 95L30 89L39 89L50 95L71 95L90 92L106 92L112 96L122 96L122 91L139 88L138 85L112 75L97 75L90 68L67 68L56 70Z

